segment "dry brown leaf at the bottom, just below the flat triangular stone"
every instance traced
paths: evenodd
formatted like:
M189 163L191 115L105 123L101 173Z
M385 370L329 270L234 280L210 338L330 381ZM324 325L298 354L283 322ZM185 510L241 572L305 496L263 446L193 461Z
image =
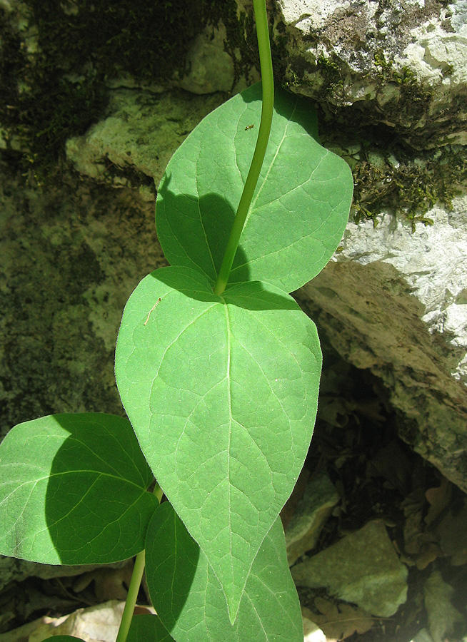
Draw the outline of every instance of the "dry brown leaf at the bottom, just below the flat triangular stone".
M313 613L313 622L321 626L328 638L345 640L353 633L366 633L373 626L372 616L358 606L346 603L337 606L324 598L316 598L315 606L320 613Z

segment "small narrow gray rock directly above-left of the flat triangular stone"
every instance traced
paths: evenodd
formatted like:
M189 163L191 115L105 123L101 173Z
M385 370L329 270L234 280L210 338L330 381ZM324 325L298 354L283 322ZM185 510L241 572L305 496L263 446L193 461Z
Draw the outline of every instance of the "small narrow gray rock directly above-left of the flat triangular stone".
M306 551L311 551L339 495L326 472L321 472L308 481L303 498L298 502L295 514L286 529L288 564L291 566Z

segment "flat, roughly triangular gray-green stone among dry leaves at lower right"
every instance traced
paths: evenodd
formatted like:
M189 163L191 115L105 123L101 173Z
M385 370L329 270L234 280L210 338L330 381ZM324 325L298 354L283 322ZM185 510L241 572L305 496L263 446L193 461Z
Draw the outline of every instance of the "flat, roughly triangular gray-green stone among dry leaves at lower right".
M291 569L297 586L324 586L333 596L390 617L407 596L407 569L381 521L345 536Z

